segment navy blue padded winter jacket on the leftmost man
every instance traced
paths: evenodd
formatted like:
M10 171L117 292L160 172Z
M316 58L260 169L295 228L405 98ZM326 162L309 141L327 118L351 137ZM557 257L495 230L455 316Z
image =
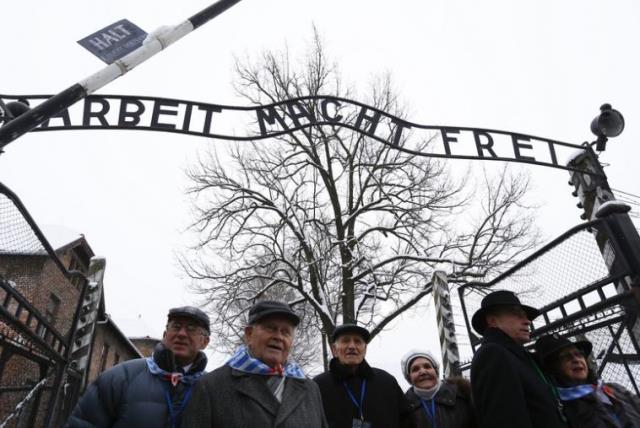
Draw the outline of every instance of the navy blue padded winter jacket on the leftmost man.
M167 352L170 351L162 346L154 352L154 360L165 370ZM200 352L188 374L204 371L206 364L207 357ZM167 371L175 371L175 368ZM179 409L188 389L181 383L173 387L169 381L151 374L144 358L126 361L98 376L87 388L65 427L170 428L172 422L166 397L169 393L177 428L180 426Z

